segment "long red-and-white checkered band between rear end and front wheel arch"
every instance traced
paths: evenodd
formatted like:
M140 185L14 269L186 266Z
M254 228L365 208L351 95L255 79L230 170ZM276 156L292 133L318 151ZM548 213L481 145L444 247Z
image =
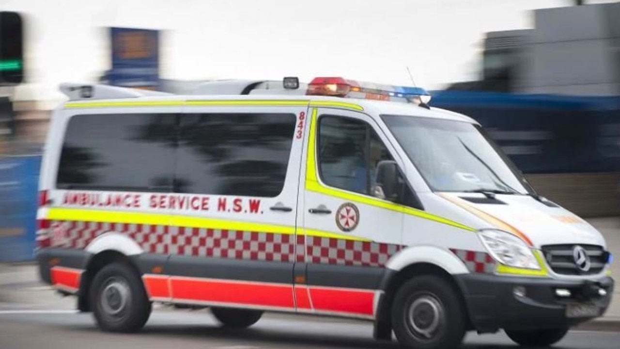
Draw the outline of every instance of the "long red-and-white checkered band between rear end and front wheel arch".
M280 262L307 258L308 263L330 265L384 266L402 248L338 238L148 224L53 221L50 231L64 235L56 247L84 249L105 232L119 232L148 253Z

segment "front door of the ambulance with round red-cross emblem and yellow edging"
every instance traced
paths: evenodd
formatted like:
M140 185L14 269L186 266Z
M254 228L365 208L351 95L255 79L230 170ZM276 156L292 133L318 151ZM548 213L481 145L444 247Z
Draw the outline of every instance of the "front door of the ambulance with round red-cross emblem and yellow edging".
M366 114L313 109L310 122L299 214L307 279L296 287L308 294L308 312L372 318L384 265L401 246L403 214L371 188L379 161L401 159Z

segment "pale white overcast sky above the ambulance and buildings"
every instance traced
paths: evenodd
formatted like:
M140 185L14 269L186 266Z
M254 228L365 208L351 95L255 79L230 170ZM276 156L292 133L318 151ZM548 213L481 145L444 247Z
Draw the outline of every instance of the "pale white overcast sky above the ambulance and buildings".
M589 3L614 2L590 0ZM343 76L428 89L474 79L484 33L533 26L531 9L570 0L0 0L27 14L29 83L18 99L56 102L61 82L108 68L105 27L162 29L163 78Z

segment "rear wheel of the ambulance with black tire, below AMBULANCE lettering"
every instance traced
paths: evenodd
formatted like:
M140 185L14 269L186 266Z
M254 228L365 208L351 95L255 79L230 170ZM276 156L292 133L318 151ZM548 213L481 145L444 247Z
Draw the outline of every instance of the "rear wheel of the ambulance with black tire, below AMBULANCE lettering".
M92 280L89 301L99 328L107 332L137 332L151 315L144 284L126 263L104 266Z

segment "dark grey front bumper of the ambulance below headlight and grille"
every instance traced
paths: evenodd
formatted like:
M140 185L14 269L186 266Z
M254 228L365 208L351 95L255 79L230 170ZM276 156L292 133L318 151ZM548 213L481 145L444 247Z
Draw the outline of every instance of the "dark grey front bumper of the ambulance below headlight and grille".
M524 278L464 274L456 277L474 328L479 332L498 329L537 329L577 325L606 312L611 302L614 281L607 276L575 281L548 278ZM524 296L515 288L525 289ZM570 296L556 295L567 289ZM601 295L599 289L604 289ZM594 304L598 316L567 317L569 304Z

